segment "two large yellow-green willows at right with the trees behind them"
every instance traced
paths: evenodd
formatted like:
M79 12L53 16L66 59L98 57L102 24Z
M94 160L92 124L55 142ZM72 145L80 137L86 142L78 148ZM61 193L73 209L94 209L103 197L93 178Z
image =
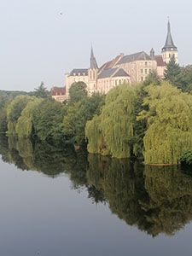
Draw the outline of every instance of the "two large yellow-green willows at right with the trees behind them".
M192 66L172 58L165 79L151 73L142 84L108 92L100 115L85 127L88 151L145 164L180 164L192 159Z

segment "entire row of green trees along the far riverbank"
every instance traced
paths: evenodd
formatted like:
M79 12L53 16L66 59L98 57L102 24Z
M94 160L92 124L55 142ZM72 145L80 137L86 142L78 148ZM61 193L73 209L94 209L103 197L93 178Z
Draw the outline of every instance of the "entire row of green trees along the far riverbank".
M83 82L67 102L55 102L41 84L1 107L0 131L43 142L87 145L94 154L144 160L145 164L192 163L192 66L174 58L165 79L155 72L143 83L121 84L87 96Z

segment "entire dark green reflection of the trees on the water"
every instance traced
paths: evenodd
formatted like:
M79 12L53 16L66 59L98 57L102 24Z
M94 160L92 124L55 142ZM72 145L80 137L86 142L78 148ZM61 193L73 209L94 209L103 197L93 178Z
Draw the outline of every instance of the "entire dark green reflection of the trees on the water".
M3 161L49 177L66 173L73 189L85 188L96 203L108 207L126 224L151 236L174 235L192 219L192 176L178 166L143 166L75 151L72 145L0 137Z

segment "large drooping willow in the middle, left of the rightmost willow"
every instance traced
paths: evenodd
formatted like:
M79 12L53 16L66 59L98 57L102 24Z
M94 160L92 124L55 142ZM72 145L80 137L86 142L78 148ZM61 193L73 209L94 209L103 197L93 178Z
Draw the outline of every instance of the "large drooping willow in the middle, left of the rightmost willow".
M116 158L137 155L137 90L122 84L110 90L99 117L87 123L85 134L90 153L111 154Z

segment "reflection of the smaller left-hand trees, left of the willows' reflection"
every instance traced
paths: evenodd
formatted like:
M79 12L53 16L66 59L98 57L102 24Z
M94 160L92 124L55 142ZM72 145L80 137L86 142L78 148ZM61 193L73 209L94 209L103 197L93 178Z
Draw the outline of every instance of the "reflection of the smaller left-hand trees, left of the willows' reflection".
M72 144L49 144L9 136L0 137L0 154L3 161L13 163L21 170L43 172L49 177L66 173L73 189L86 188L88 197L94 201L105 201L102 191L87 182L87 154L80 149L75 152Z

